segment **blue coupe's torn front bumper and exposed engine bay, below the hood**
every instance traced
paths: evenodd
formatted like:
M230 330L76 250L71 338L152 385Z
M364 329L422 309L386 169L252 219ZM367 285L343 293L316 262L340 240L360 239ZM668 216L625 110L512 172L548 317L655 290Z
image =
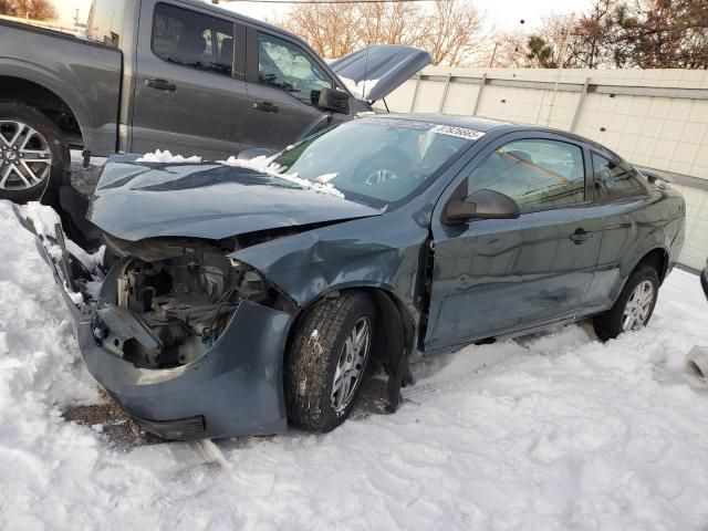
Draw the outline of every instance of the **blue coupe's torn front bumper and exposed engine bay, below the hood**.
M293 309L227 257L233 248L104 235L112 263L103 274L60 225L42 232L27 212L18 217L63 287L90 373L146 430L191 439L287 429L282 353Z

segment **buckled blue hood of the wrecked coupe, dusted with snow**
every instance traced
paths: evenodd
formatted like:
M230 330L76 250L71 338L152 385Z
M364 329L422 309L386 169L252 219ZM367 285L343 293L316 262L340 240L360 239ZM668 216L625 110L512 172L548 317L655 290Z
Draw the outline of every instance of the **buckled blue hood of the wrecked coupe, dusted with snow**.
M218 163L148 164L108 159L86 218L128 241L221 239L283 227L378 216L374 208L256 169Z

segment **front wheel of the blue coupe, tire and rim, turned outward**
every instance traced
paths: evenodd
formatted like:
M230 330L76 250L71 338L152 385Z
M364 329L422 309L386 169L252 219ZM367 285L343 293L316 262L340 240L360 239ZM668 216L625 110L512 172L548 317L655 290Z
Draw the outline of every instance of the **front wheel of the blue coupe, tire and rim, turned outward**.
M346 420L366 371L375 317L372 300L352 291L324 299L299 322L285 361L284 378L288 418L293 425L306 431L325 433ZM367 323L366 337L362 323ZM347 340L358 334L363 352L360 350L356 355L355 350L347 351ZM352 353L352 360L347 361L347 354ZM358 369L357 376L351 367ZM342 376L339 391L337 375Z

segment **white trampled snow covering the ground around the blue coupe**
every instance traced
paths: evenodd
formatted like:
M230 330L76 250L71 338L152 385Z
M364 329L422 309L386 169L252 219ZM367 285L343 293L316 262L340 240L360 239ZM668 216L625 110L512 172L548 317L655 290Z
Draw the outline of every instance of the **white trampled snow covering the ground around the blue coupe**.
M65 421L100 400L32 237L0 202L0 529L706 529L708 344L675 271L649 327L584 325L416 367L395 415L321 436L124 450Z

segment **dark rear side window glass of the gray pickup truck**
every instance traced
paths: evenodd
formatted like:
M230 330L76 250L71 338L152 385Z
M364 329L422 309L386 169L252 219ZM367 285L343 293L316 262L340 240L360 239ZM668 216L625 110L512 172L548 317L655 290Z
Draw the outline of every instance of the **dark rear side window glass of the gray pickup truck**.
M153 18L153 53L168 63L231 75L233 24L158 3Z

